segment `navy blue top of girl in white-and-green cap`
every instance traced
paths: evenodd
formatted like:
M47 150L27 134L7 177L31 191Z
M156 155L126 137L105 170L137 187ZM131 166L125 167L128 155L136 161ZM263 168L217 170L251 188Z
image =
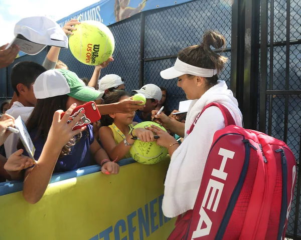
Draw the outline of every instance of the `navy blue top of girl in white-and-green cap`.
M72 147L68 155L59 157L53 172L65 172L80 167L91 165L90 145L94 141L93 127L88 124L86 130L82 132L81 139ZM43 136L39 136L35 141L37 130L29 133L36 148L34 158L38 160L41 156L45 141ZM23 154L28 156L27 151L23 147Z

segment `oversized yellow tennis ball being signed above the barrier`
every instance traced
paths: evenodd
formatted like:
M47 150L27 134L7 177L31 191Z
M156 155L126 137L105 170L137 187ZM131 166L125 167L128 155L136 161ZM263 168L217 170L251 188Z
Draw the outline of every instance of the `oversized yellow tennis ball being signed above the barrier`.
M137 124L134 129L150 127L150 125L158 126L166 131L164 127L155 122L141 122ZM140 140L135 140L134 144L129 149L129 153L136 162L142 164L155 164L166 157L168 150L165 147L158 146L156 141L142 142Z

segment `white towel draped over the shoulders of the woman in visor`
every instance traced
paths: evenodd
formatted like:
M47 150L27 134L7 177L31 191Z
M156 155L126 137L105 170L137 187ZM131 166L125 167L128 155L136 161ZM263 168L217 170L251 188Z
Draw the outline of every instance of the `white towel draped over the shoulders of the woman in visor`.
M162 209L167 217L178 216L194 207L214 133L225 127L221 111L217 107L206 109L192 133L187 135L186 132L203 108L212 102L227 107L236 124L242 126L237 100L224 81L218 81L200 99L191 103L184 141L174 152L166 176Z

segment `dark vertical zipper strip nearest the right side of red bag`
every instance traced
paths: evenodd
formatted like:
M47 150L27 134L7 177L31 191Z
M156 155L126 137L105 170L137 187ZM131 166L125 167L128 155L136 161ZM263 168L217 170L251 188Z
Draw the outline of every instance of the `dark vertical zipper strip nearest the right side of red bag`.
M275 150L275 152L281 153L281 167L282 167L282 201L281 201L281 211L280 211L280 221L277 240L282 239L283 228L286 220L287 211L287 164L286 157L283 148Z

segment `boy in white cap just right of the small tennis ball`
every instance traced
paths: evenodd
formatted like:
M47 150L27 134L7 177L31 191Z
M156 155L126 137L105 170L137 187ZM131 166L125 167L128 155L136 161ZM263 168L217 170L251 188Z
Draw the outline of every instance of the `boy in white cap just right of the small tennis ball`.
M152 111L156 109L162 99L162 91L155 84L146 84L139 90L133 90L135 93L141 93L146 98L145 107L136 113L142 122L152 121Z

